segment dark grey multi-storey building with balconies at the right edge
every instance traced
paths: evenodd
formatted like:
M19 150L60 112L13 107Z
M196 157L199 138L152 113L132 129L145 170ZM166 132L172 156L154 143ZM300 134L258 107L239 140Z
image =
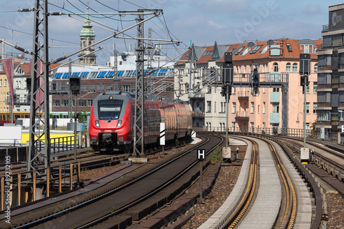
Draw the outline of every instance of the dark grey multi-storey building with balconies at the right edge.
M323 25L323 45L318 50L317 127L325 137L341 131L344 124L344 4L329 7L329 21Z

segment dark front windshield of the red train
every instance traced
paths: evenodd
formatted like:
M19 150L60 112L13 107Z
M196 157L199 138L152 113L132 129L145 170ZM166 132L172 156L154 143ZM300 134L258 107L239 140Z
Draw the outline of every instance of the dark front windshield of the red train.
M99 100L98 116L99 119L118 119L122 110L122 100Z

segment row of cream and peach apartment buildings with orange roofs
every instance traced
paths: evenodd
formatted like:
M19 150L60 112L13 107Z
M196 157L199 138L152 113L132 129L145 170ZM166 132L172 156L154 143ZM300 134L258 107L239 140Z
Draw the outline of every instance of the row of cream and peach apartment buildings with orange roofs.
M228 109L228 127L233 131L264 130L272 133L274 130L279 133L284 128L292 133L293 129L303 129L304 94L300 86L299 56L310 54L312 61L310 85L306 87L305 114L306 129L310 129L316 121L315 52L321 43L309 39L277 39L194 47L175 65L176 72L181 75L181 79L177 74L175 76L175 89L184 89L180 98L189 101L193 107L193 127L224 131L225 111ZM234 83L228 107L220 95L224 52L232 53L234 64ZM189 60L189 56L193 59ZM252 96L250 76L255 68L259 72L260 87L259 94ZM190 72L192 80L188 80ZM189 82L192 82L191 87Z

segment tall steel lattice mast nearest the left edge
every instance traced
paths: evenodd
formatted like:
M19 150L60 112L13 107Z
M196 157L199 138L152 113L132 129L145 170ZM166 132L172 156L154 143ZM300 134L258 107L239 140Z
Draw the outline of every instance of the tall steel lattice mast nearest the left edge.
M30 143L28 167L36 168L37 160L50 166L50 123L49 123L49 63L48 63L48 23L47 1L35 0L34 37L31 69L30 101ZM40 41L41 40L41 41ZM35 129L38 127L38 129ZM42 129L41 129L42 127Z

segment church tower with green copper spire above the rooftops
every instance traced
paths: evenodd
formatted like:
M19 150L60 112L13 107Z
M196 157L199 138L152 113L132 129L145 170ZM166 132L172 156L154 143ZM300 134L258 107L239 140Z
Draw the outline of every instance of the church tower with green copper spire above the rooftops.
M87 6L87 13L88 12L89 12L89 7ZM93 65L96 64L96 54L94 54L94 46L93 46L95 36L96 35L94 34L94 30L92 30L91 21L89 21L89 14L87 14L85 25L83 25L83 30L81 30L80 32L80 47L82 50L84 47L87 47L89 45L92 45L92 46L80 52L79 57L85 54L87 54L87 56L80 57L79 63L93 64Z

